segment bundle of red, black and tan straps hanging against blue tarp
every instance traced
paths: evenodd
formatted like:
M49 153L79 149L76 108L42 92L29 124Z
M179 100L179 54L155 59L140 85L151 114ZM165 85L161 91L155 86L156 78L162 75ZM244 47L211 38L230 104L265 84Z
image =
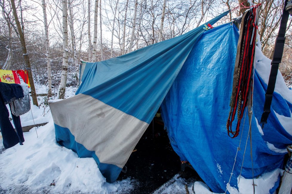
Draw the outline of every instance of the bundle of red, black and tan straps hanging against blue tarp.
M226 123L228 136L237 137L243 112L248 104L248 94L252 90L252 76L254 68L254 55L256 46L257 29L257 8L252 6L242 16L240 37L237 45L236 62L233 74L233 90L230 101L230 112ZM237 115L235 130L232 129L232 122Z

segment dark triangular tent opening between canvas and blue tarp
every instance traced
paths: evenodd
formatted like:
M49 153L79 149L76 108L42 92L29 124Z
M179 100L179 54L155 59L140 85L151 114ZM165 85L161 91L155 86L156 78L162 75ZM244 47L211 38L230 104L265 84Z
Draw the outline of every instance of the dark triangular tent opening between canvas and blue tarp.
M118 180L134 179L133 193L151 193L178 173L182 178L202 180L191 168L182 172L181 161L170 145L161 117L150 123L126 167L127 172L120 173Z

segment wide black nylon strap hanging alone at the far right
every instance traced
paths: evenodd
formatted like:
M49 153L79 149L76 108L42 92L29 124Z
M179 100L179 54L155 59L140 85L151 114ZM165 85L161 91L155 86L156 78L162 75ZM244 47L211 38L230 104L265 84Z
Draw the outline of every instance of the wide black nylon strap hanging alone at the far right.
M273 100L273 92L275 90L275 84L276 84L276 78L277 78L277 74L278 74L279 63L281 63L283 50L284 50L285 33L286 33L286 27L287 27L287 22L288 22L288 18L289 18L289 13L288 13L288 11L285 10L285 7L287 5L287 1L288 0L286 0L285 4L284 4L282 19L281 19L281 23L280 23L280 29L279 29L278 36L276 38L276 43L275 43L275 48L274 48L274 53L273 53L273 60L271 62L271 73L270 73L270 77L269 77L267 91L265 94L264 112L263 112L262 118L261 118L262 128L264 127L264 124L267 123L268 116L271 112L271 104L272 104L272 100Z

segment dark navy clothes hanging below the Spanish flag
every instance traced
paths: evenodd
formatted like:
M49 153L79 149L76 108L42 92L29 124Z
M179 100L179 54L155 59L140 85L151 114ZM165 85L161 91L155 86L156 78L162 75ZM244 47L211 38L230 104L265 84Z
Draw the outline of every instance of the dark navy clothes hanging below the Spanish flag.
M20 85L0 82L0 129L3 145L6 149L13 147L17 143L23 145L22 143L24 142L20 117L11 115L16 129L15 131L9 120L9 112L6 107L6 104L23 97L23 90Z

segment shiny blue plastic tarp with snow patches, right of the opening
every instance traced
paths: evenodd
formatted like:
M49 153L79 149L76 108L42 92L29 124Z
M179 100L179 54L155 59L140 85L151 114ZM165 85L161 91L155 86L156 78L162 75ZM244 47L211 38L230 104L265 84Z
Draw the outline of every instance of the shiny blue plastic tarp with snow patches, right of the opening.
M162 118L173 149L181 160L190 162L216 193L226 190L241 132L240 151L228 190L234 193L240 187L237 180L242 162L240 182L245 182L243 185L253 190L252 181L245 181L252 179L250 139L247 140L248 116L241 121L238 137L231 139L226 129L237 42L238 32L234 25L225 24L204 32L161 105ZM265 186L268 189L266 193L273 193L278 187L280 171L276 169L283 167L284 150L292 143L292 91L286 87L280 72L268 123L263 129L258 124L263 112L270 64L271 60L256 48L251 123L253 173L255 178L265 177L263 174L269 172L276 176L273 181L264 180L270 181L269 187ZM255 187L258 187L256 190L262 188L261 185ZM243 192L242 188L239 190Z

